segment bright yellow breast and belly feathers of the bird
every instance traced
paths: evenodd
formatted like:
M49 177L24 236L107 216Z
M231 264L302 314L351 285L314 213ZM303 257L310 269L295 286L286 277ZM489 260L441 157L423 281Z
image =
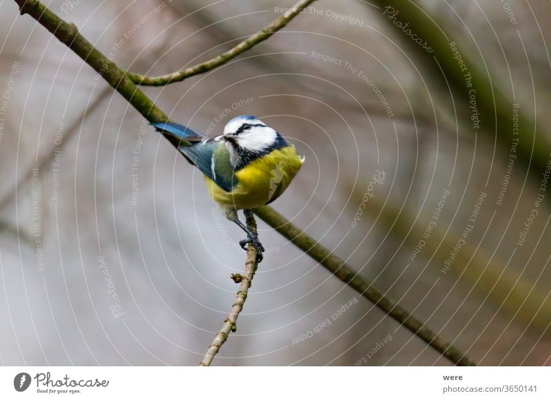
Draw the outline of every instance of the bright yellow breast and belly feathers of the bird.
M287 189L304 163L295 146L274 150L268 155L255 159L236 173L238 185L226 192L205 176L207 186L215 201L242 210L257 208L271 203Z

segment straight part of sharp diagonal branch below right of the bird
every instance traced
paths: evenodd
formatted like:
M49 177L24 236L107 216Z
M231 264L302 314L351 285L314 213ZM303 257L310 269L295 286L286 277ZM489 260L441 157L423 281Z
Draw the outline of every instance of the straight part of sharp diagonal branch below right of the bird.
M427 344L444 355L444 357L450 359L450 361L459 366L475 365L475 363L472 362L467 355L459 351L458 348L452 346L450 342L437 335L435 331L428 328L424 322L415 318L397 302L385 296L372 282L362 278L359 272L355 271L350 265L344 263L341 258L335 256L329 249L320 245L320 243L316 242L311 236L293 225L293 223L289 222L284 216L273 210L273 208L268 206L256 208L254 213L258 215L262 221L288 238L293 245L302 249L303 252L318 261L318 263L326 267L326 269L329 269L331 274L342 280L346 285L355 289L355 291L368 300L371 300L371 302L382 309L387 315L397 320L404 328L420 337Z

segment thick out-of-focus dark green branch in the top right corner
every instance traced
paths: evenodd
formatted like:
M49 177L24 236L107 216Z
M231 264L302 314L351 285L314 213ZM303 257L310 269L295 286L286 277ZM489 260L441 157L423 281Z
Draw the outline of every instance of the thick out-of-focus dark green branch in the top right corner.
M423 5L402 0L374 3L380 6L381 19L422 63L424 73L431 76L442 91L451 91L450 94L457 97L455 104L461 120L470 120L470 124L464 122L470 126L467 131L475 136L478 132L486 135L490 142L499 144L503 153L510 153L514 147L519 162L529 168L534 181L539 181L550 162L551 140L536 123L536 115L532 118L524 107L514 110L514 104L520 102L514 95L514 87L504 91L503 82L492 79L487 67L486 71L478 67L475 60L484 58L480 49L464 46L464 41L455 39L449 32L446 22L428 14ZM430 49L418 45L411 32L424 39ZM514 130L517 135L512 134ZM548 204L550 200L549 196L545 199Z

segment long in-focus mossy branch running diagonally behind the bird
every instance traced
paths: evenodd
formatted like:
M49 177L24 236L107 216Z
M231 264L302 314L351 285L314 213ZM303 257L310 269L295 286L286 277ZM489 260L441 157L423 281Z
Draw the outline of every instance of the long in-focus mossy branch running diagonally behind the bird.
M14 0L19 4L21 14L29 14L48 29L56 38L70 47L85 63L94 68L116 91L121 93L130 104L141 113L149 122L165 122L167 115L136 87L125 71L119 69L105 55L88 42L77 30L74 24L66 23L59 16L48 10L38 0ZM457 348L450 346L444 338L436 335L421 321L410 315L408 311L400 307L393 300L384 296L384 293L375 288L371 282L364 280L354 269L349 267L335 254L317 243L311 236L302 232L298 227L292 225L287 219L272 208L264 206L255 210L275 230L286 238L293 241L306 254L318 260L318 262L329 269L337 278L342 280L369 300L375 302L391 318L422 338L433 346L444 357L458 365L472 365L472 361Z

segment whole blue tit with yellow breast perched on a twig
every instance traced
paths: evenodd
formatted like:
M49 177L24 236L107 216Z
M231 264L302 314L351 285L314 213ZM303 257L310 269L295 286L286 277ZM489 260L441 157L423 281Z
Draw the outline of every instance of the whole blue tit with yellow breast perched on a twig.
M203 174L211 197L229 221L247 234L242 249L251 243L262 261L264 247L258 235L238 217L280 197L304 164L295 146L254 115L239 115L222 135L207 137L174 122L152 124L187 161Z

